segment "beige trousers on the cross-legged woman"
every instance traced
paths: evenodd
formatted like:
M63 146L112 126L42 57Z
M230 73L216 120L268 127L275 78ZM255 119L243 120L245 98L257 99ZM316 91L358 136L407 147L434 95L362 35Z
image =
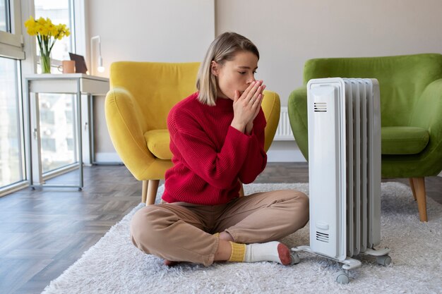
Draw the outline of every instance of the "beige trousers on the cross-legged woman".
M170 261L213 263L226 231L236 243L283 238L309 221L309 198L295 190L259 192L227 204L163 203L143 207L131 221L131 238L147 254Z

